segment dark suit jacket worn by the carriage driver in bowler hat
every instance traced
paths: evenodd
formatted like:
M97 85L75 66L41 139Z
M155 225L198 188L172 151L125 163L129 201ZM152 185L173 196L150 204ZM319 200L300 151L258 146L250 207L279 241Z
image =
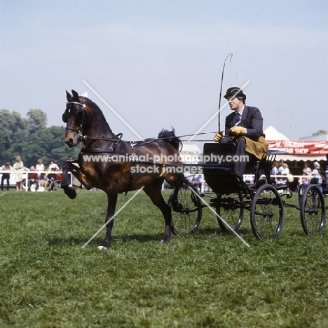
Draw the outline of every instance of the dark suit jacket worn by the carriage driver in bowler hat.
M235 111L226 116L226 136L229 135L229 129L235 125ZM263 133L263 118L261 111L257 107L245 106L242 112L242 118L240 122L242 128L247 129L246 137L250 139L259 139L259 137L265 137Z

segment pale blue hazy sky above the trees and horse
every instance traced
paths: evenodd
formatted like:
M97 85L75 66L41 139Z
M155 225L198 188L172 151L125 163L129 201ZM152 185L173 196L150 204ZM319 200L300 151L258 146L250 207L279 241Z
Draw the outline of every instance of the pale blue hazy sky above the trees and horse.
M233 53L223 91L250 81L264 128L306 137L328 130L327 12L323 0L1 0L0 109L63 125L65 90L88 92L114 132L138 139L88 83L144 138L193 134L218 109ZM202 132L217 130L214 118Z

